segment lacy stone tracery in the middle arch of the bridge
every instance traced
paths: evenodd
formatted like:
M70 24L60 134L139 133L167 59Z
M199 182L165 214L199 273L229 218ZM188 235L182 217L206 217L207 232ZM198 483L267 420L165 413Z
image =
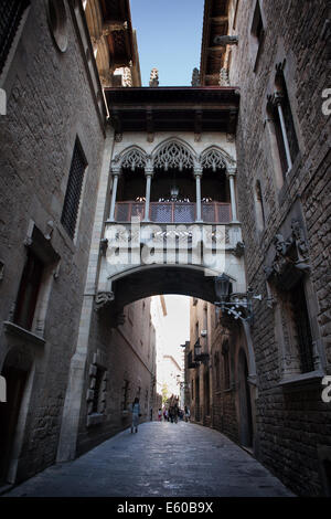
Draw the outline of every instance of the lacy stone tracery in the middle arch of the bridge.
M197 161L191 146L184 140L170 137L160 142L152 151L152 165L154 169L179 168L193 169Z

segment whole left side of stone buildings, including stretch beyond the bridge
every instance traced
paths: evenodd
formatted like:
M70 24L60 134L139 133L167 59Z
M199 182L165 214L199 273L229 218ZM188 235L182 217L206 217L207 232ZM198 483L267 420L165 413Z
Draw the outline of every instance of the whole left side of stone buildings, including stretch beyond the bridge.
M127 426L137 394L146 419L156 367L150 300L103 336L92 295L114 142L103 85L140 84L129 2L3 1L0 15L0 480L13 483L63 456L73 373L76 455ZM92 313L100 340L79 364Z

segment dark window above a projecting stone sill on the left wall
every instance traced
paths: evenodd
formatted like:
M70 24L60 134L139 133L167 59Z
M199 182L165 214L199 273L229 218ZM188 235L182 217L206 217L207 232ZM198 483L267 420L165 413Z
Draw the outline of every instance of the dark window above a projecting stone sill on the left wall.
M13 321L26 330L32 328L43 269L44 264L29 251L13 317Z

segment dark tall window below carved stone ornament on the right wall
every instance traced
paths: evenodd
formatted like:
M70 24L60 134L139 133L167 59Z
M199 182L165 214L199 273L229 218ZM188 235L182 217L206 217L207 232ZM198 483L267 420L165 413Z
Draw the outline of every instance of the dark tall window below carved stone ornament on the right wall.
M299 280L289 293L291 318L295 325L296 341L301 373L314 370L312 333L307 309L303 280Z

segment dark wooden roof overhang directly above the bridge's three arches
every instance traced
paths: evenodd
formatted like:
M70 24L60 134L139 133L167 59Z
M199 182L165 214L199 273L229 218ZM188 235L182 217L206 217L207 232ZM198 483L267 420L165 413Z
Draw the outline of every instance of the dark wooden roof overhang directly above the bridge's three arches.
M225 131L235 134L236 87L105 88L109 120L124 131Z

